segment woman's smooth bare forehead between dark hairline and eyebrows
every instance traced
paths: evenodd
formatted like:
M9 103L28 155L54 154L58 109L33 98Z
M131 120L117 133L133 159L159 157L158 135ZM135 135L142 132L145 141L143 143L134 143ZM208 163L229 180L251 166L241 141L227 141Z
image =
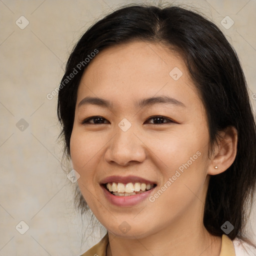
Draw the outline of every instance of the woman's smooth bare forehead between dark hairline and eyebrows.
M182 58L159 43L137 41L99 52L85 69L77 102L87 95L118 103L166 95L191 103L198 100Z

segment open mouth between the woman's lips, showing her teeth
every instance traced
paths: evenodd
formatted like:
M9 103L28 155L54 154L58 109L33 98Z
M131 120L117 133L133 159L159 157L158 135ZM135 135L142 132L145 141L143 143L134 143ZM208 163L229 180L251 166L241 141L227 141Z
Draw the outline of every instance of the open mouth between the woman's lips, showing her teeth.
M103 184L104 188L113 195L116 196L130 196L140 193L144 193L156 186L153 183L140 183L140 182L107 182Z

